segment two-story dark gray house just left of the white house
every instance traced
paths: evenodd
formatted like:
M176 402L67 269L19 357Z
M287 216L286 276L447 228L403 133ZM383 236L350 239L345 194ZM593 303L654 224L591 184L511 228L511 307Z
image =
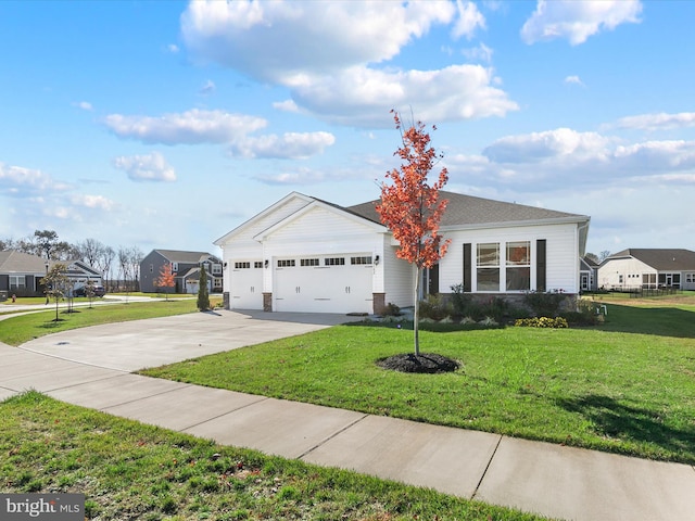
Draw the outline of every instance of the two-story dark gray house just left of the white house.
M163 266L170 264L175 274L174 288L159 288L156 280ZM198 293L201 267L207 274L207 291L219 293L223 289L222 260L206 252L181 252L178 250L152 250L140 262L140 291L146 293Z

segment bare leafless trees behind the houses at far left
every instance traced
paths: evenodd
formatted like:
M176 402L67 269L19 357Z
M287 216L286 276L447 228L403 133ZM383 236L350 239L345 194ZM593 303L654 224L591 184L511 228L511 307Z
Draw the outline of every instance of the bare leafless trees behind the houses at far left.
M48 260L81 260L101 272L108 291L138 291L140 262L144 257L137 246L114 250L97 239L85 239L71 244L59 240L53 230L36 230L33 236L14 240L0 239L0 251L14 250L37 255Z

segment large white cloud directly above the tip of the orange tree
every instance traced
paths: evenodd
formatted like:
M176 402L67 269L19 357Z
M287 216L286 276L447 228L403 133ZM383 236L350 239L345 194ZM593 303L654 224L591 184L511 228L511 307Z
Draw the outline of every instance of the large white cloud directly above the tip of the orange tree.
M517 110L504 91L492 87L493 80L492 69L480 65L408 72L353 67L298 87L294 100L330 123L381 128L391 126L391 109L412 107L418 119L432 123Z

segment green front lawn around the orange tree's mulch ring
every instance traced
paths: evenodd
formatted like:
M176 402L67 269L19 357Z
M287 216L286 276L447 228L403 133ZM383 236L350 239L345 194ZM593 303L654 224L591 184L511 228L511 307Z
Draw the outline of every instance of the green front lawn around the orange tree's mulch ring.
M378 358L412 350L412 331L367 325L339 326L142 372L695 463L695 306L633 304L608 304L606 323L597 328L421 331L424 353L460 360L462 368L446 374L380 369Z

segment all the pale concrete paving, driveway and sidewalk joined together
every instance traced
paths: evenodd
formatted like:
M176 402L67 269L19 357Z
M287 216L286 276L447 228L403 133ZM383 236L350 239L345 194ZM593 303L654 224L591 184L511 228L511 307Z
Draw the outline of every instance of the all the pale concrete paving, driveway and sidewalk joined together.
M36 389L146 423L577 520L695 520L695 469L131 374L345 317L195 314L0 344L0 399Z

